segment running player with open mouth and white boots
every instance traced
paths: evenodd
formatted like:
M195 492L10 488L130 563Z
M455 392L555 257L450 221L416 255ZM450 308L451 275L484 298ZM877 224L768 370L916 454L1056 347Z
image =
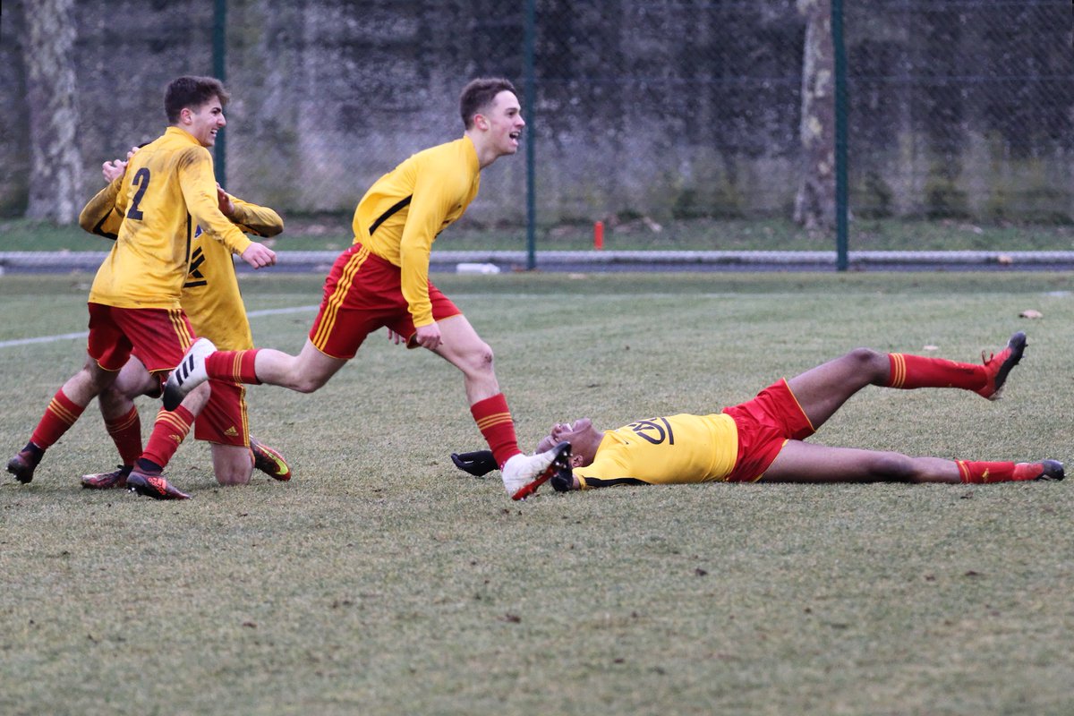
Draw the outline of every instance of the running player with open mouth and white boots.
M470 413L503 470L504 486L514 499L524 496L550 469L555 451L519 450L492 349L429 280L429 254L437 235L477 195L481 170L518 151L525 122L506 79L470 82L460 112L461 138L413 155L359 202L354 243L325 280L320 312L299 355L272 349L214 352L211 341L199 340L165 385L165 408L207 378L311 393L354 357L369 333L387 326L409 348L426 348L462 371Z

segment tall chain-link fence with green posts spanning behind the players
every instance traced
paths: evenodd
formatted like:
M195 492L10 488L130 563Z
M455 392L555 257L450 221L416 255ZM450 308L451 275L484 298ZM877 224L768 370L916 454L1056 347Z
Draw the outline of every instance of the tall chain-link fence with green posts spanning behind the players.
M953 222L1072 223L1068 3L845 4L851 249L872 248L909 220L939 228L929 240L940 245L905 232L897 248L944 248ZM0 30L12 68L0 77L6 216L25 210L25 177L35 171L30 4L12 5ZM815 164L803 148L807 135L830 144L833 115L803 115L806 100L832 104L823 44L818 62L806 52L818 36L830 43L829 0L226 5L227 186L285 216L330 213L346 227L378 176L461 135L458 93L478 75L507 76L532 99L532 137L484 173L462 225L521 242L532 189L538 249L561 248L560 237L595 220L612 231L641 224L659 246L674 232L707 232L712 249L738 246L743 227L789 225L811 173L833 176L830 147ZM89 196L101 161L160 133L166 82L212 72L215 15L213 3L194 0L83 0L71 12L81 193ZM1041 248L1071 248L1071 234L1050 236Z

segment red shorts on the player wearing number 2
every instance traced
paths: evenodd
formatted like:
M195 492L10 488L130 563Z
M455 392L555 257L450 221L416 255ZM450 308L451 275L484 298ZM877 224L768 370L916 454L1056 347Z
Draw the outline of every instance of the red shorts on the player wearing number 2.
M86 350L105 370L119 370L133 355L149 372L171 370L194 341L179 308L116 308L90 303Z

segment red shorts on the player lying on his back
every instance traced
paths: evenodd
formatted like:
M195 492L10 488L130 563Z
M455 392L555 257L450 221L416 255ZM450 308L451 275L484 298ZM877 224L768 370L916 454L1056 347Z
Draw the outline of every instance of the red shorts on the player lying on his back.
M738 426L739 454L728 482L756 482L787 440L804 440L815 430L785 379L752 400L724 408Z

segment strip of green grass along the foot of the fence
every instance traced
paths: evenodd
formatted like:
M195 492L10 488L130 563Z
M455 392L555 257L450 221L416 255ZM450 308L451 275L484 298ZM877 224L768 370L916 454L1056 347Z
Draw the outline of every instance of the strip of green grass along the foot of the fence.
M285 232L268 244L280 251L342 250L350 246L351 218L343 215L286 216ZM593 248L592 222L541 225L539 250ZM451 227L436 243L438 250L523 250L523 227L483 227L467 219ZM1048 224L972 224L959 221L858 220L851 223L850 248L871 251L1074 250L1074 227ZM47 222L0 222L0 251L102 251L106 239L75 227ZM830 251L830 232L808 232L783 220L690 219L656 223L643 219L609 220L608 250L757 250Z

